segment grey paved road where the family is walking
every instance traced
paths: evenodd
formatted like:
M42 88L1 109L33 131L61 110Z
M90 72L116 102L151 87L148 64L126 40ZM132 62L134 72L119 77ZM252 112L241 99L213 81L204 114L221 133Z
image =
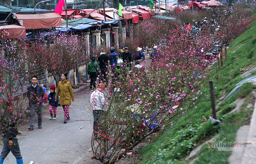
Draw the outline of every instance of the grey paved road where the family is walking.
M63 123L63 108L58 106L56 120L49 120L48 108L43 111L42 129L38 129L37 116L33 131L28 131L28 125L20 127L23 134L17 138L24 164L31 160L35 164L99 163L91 159L92 114L88 109L89 101L88 89L75 95L74 103L69 106L70 120L67 124ZM16 163L12 153L7 158L9 160L4 160L4 164Z

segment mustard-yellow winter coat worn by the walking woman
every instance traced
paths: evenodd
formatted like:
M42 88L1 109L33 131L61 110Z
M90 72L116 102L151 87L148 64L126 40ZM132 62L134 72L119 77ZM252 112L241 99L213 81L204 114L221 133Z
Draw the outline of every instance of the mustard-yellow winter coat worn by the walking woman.
M69 82L67 79L65 82L62 82L62 80L59 82L55 100L57 101L58 96L60 94L60 105L71 105L71 97L72 100L75 100L74 93L71 87L71 82Z

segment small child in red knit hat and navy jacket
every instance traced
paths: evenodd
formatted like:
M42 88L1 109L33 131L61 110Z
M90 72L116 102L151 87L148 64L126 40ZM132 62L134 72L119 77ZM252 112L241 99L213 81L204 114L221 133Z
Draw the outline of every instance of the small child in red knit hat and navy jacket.
M48 100L49 100L49 104L50 104L50 107L49 107L49 111L50 111L50 117L49 119L56 119L56 112L57 112L57 107L58 107L58 102L59 102L59 98L57 99L57 101L54 101L54 98L55 98L55 95L56 95L56 92L55 92L55 85L52 85L50 87L50 91L51 93L48 95ZM52 116L52 111L53 111L53 116Z

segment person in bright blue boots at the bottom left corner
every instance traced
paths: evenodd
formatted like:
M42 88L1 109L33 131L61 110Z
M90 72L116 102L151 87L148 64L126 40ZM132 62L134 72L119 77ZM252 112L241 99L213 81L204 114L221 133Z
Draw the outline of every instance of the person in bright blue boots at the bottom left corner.
M0 155L0 164L3 164L4 159L10 153L10 151L15 156L17 164L23 164L18 139L16 138L17 134L21 135L22 132L17 130L17 124L15 122L15 118L12 115L12 108L10 108L12 104L7 104L8 105L5 107L6 113L2 121L2 124L6 125L6 128L2 134L3 148Z

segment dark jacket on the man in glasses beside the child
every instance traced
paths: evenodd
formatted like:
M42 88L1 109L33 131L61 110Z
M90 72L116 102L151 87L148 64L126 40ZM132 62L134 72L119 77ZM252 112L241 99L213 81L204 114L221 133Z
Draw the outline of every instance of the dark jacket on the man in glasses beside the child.
M39 103L39 106L43 105L44 89L41 85L37 84L36 88L32 87L32 84L28 86L27 90L28 105ZM36 94L36 95L35 95Z

